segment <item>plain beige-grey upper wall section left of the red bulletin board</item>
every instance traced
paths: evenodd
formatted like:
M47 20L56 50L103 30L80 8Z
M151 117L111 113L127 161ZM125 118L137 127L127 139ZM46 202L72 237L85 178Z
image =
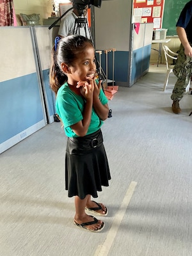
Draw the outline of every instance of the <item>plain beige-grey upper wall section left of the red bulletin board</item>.
M129 51L132 0L102 1L95 8L95 46Z

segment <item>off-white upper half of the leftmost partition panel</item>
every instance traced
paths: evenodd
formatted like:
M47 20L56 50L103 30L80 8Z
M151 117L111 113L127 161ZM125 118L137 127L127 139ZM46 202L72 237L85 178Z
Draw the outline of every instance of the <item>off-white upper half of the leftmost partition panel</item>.
M1 36L2 38L10 38L10 40L2 40L1 42L0 83L15 77L35 73L36 66L29 29L24 27L1 27ZM14 38L14 47L12 38ZM27 45L27 51L23 51L24 44ZM8 49L8 55L5 49ZM23 54L21 55L20 52L23 52Z

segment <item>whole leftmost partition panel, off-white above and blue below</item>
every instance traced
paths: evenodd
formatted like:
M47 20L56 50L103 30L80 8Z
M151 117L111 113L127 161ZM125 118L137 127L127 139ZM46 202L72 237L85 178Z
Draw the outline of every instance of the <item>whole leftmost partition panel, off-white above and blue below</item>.
M1 27L0 153L45 126L31 28Z

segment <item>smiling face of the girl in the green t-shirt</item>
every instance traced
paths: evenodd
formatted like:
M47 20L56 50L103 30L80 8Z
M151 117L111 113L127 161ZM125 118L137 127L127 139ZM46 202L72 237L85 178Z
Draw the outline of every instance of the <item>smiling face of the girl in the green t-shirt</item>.
M77 85L77 82L86 80L87 76L93 78L95 72L95 49L92 45L88 45L86 49L79 54L74 64L68 67L68 83Z

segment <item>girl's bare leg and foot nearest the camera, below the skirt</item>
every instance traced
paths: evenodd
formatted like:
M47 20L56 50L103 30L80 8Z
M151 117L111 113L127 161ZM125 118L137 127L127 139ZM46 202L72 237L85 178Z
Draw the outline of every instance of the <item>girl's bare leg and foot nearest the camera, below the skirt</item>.
M86 195L86 197L84 199L81 199L81 198L79 198L79 196L75 196L76 215L74 217L74 220L78 224L93 221L92 216L89 216L84 211L84 208L86 207L88 199L90 197L91 197L90 195ZM103 223L102 221L98 220L97 223L88 225L88 226L86 226L86 228L88 228L90 230L99 230L102 227L102 223Z

